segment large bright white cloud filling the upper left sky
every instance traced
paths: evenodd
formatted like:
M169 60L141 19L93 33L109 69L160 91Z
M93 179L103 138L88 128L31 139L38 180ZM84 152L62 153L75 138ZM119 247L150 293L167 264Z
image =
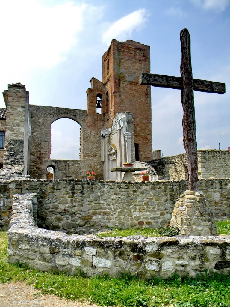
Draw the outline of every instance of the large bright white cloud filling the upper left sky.
M82 29L86 8L72 2L46 7L38 0L1 1L0 83L23 81L31 69L64 60Z

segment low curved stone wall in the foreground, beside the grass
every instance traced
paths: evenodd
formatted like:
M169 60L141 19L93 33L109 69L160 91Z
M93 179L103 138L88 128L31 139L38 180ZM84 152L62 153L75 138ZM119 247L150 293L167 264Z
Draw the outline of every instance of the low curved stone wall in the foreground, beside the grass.
M230 272L230 236L98 238L38 229L33 218L35 194L14 195L8 231L8 262L42 271L87 276L131 273L167 278L174 272L196 276L213 270Z

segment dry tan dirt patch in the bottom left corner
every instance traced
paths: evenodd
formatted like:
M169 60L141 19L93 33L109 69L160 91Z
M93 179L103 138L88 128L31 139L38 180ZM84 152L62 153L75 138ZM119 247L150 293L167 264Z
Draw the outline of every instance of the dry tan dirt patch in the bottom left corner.
M56 295L41 294L25 282L0 283L1 307L98 307L87 302L80 303L61 299Z

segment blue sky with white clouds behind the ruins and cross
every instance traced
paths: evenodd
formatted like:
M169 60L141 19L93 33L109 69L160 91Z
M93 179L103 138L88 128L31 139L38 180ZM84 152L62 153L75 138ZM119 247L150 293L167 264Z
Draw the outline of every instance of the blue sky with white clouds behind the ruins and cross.
M230 0L8 0L0 10L1 91L21 82L30 104L85 110L89 80L102 80L102 54L113 38L149 45L151 72L180 76L179 33L187 28L194 78L226 84L224 95L194 92L197 147L230 146ZM151 92L153 150L185 152L180 91ZM78 159L78 149L78 124L54 122L52 158Z

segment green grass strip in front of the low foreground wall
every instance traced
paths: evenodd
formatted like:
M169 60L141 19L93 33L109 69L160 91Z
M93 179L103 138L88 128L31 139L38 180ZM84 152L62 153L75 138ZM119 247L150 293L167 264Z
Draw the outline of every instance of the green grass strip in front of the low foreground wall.
M19 264L6 262L7 235L0 231L0 282L26 281L42 293L79 301L88 300L99 306L121 307L217 307L230 306L230 276L199 275L197 278L174 274L165 280L139 280L123 275L87 278L79 273L38 272Z

